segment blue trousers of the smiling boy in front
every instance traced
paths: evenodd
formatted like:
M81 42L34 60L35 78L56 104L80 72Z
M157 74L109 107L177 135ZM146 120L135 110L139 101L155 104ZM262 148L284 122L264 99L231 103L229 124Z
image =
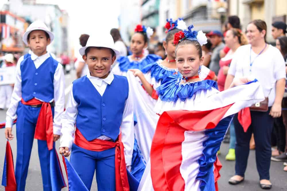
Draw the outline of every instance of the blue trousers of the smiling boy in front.
M91 189L95 171L99 191L116 190L115 148L98 152L73 144L70 163L88 190Z

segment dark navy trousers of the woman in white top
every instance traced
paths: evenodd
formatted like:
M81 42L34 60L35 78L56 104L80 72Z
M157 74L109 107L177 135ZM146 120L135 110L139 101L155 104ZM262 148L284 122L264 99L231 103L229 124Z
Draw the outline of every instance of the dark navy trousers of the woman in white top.
M274 124L274 118L269 115L270 108L267 112L251 111L251 125L247 132L238 122L238 114L233 118L236 144L235 144L235 174L243 176L247 167L249 155L249 142L252 133L255 141L256 166L260 180L270 179L269 169L271 163L271 133Z

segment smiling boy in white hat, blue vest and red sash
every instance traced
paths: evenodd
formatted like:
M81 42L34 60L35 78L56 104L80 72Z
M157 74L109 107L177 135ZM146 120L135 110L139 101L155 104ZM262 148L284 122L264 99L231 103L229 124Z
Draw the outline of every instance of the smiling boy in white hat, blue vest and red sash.
M67 157L72 150L70 162L88 190L95 170L98 190L127 189L134 122L127 78L111 71L119 51L110 34L100 34L90 36L79 52L90 73L73 82L59 152Z

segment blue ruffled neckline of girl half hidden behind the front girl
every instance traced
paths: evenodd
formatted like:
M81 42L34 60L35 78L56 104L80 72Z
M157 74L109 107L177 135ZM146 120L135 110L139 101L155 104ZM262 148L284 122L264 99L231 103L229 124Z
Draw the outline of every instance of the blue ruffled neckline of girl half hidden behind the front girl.
M150 71L151 77L153 77L156 82L163 80L167 76L181 77L181 74L178 72L177 69L165 67L161 64L160 61L156 61L155 63L147 65L141 71L143 73L148 73Z

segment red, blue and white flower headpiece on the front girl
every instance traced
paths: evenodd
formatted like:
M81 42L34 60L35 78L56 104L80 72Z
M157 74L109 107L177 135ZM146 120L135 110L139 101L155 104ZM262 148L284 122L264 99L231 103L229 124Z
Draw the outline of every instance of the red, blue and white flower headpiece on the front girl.
M205 33L202 32L202 30L200 31L196 31L196 30L192 30L193 29L193 25L188 26L187 30L183 30L179 31L177 33L174 34L174 41L173 43L175 45L177 45L179 42L188 39L188 40L196 40L199 42L200 46L202 46L203 44L207 43L207 38L205 36Z

